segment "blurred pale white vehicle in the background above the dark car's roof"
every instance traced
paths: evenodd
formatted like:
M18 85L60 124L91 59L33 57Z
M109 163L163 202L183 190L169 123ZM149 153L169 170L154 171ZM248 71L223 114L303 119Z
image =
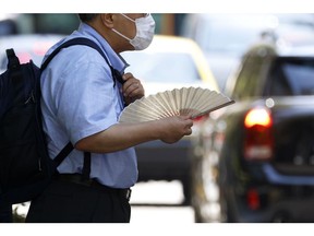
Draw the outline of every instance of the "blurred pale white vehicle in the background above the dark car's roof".
M258 40L274 40L292 27L294 35L314 34L313 14L188 14L181 35L193 38L205 52L224 92L226 80L242 55ZM282 28L282 31L281 31Z

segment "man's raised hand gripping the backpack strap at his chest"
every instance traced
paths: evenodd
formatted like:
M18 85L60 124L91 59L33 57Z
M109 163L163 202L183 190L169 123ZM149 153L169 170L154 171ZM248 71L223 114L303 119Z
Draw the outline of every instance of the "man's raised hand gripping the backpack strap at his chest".
M126 105L142 98L145 95L141 81L134 78L132 73L123 74L122 79L125 81L122 86L122 93Z

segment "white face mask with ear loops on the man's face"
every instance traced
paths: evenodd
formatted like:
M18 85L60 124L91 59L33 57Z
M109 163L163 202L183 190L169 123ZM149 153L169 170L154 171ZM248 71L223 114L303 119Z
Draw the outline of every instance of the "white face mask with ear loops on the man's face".
M122 36L123 38L128 39L135 50L143 50L147 48L150 45L155 34L155 21L153 16L148 14L144 17L133 20L125 14L122 15L135 23L136 26L135 37L131 39L114 28L112 28L112 31L118 35Z

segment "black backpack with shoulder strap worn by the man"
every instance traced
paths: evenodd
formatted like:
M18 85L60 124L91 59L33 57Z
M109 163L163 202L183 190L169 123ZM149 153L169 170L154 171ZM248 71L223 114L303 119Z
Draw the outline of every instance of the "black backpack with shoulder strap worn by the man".
M97 44L84 37L63 43L40 69L32 60L21 64L14 50L7 50L8 70L0 75L0 205L31 201L38 196L73 150L69 142L53 161L48 156L39 103L41 71L62 48L71 45L93 47L109 64ZM122 83L119 72L109 67L114 84L116 80ZM85 153L84 177L89 178L89 173L90 154Z

